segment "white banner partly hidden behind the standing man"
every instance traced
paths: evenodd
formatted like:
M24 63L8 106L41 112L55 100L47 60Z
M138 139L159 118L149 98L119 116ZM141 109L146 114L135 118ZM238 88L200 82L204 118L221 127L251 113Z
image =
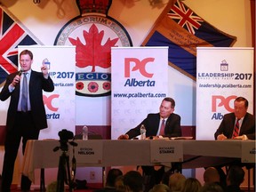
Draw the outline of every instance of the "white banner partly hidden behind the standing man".
M34 55L31 68L40 72L43 63L48 65L54 83L53 92L43 92L48 128L40 132L39 139L59 140L62 129L75 132L76 128L76 47L19 46L19 54L25 49Z

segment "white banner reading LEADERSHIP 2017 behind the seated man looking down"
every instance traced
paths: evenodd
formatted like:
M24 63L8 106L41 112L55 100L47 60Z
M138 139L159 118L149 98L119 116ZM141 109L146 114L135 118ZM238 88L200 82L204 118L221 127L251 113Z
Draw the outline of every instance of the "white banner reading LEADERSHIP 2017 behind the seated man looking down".
M253 48L198 47L196 63L196 139L214 140L236 97L253 113Z

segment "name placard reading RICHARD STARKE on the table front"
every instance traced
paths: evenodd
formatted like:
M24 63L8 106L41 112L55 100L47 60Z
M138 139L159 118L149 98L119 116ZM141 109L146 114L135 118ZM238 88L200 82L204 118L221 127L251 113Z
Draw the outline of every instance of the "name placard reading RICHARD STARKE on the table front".
M151 163L182 162L183 144L180 140L151 140Z

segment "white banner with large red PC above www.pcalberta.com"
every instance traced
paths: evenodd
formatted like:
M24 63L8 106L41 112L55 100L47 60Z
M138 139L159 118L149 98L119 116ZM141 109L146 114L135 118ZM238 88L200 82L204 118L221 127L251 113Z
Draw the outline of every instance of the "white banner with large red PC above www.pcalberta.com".
M168 47L112 47L111 137L159 112L168 95Z

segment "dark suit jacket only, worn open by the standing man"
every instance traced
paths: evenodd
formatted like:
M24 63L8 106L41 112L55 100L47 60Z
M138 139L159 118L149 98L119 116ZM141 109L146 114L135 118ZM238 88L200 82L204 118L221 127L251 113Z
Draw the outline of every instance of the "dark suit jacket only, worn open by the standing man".
M12 73L6 78L4 88L0 92L0 100L7 100L11 96L10 105L7 113L7 130L12 130L15 122L16 112L20 98L20 84L17 84L13 92L9 92L8 86L12 84L12 80L17 73ZM31 113L38 130L47 128L45 108L43 102L44 92L52 92L54 84L51 77L45 79L43 73L31 71L29 79L29 99L31 104Z

